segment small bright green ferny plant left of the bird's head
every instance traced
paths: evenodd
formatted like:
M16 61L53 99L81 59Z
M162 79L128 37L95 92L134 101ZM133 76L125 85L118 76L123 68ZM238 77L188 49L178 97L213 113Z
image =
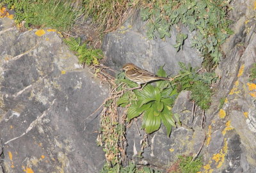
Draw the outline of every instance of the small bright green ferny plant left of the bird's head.
M76 52L81 64L99 64L99 59L103 58L102 50L88 48L86 43L81 44L81 38L67 38L64 42L70 47L70 50Z

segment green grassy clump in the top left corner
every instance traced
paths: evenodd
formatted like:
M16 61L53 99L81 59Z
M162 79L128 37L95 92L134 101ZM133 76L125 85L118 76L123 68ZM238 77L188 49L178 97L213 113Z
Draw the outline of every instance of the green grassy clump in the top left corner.
M52 27L60 31L70 29L82 11L74 10L71 1L2 0L8 8L15 9L15 21L24 21L25 27Z

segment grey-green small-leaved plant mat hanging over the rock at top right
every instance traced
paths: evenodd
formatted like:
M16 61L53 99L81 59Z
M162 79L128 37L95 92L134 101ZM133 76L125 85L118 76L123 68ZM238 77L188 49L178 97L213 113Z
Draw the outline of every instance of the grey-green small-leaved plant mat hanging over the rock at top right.
M181 1L148 1L143 4L141 18L148 20L148 38L164 38L170 36L171 27L183 24L189 31L196 31L191 40L203 56L209 54L214 64L220 62L222 56L220 45L232 34L228 28L228 1L181 0ZM175 47L182 47L186 34L177 35Z

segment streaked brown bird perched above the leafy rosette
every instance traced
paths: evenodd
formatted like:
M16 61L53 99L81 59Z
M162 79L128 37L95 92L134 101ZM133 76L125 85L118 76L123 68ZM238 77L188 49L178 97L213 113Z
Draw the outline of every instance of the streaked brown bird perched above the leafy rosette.
M136 82L140 86L134 87L131 89L139 89L141 88L141 84L144 84L143 87L147 85L148 82L154 81L154 80L172 80L168 77L159 77L155 75L154 73L151 73L147 70L143 70L142 68L132 64L127 63L124 64L123 70L125 70L125 76L131 80L132 82ZM141 89L143 89L143 87Z

